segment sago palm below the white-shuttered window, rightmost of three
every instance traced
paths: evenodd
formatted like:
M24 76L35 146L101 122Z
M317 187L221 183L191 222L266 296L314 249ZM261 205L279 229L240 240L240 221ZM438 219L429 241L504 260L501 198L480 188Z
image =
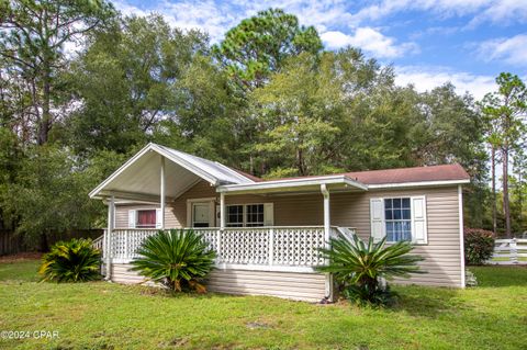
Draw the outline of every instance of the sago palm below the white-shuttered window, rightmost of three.
M421 256L408 255L413 247L408 241L385 246L384 237L373 242L370 237L366 245L357 235L352 241L347 238L332 238L329 249L321 249L329 263L319 267L322 272L333 273L340 283L344 295L358 303L388 304L394 293L385 280L395 276L407 278L411 273L426 273L419 270Z

